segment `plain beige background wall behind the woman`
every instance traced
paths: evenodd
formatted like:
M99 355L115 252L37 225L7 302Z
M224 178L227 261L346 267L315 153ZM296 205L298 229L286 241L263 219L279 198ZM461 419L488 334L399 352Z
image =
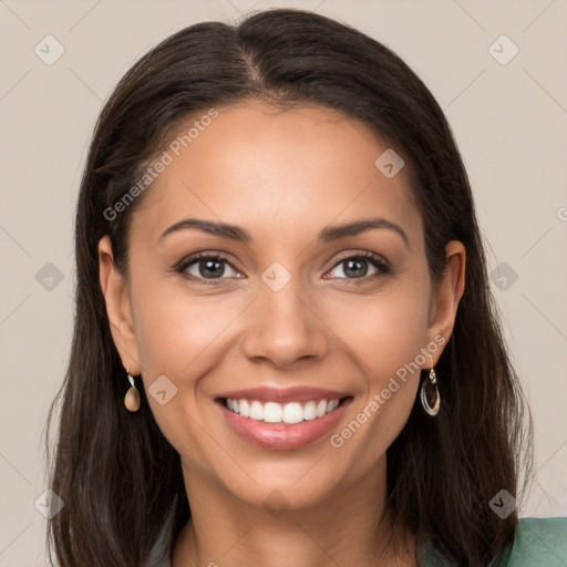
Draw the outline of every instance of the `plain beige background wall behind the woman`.
M45 520L34 507L47 488L41 434L70 348L73 212L102 101L166 35L276 6L337 17L386 43L445 110L491 270L506 262L517 275L493 289L535 417L537 473L520 514L567 515L565 0L0 0L0 566L45 564ZM34 53L48 34L64 48L52 65ZM519 48L505 65L488 51L502 34ZM501 43L501 56L512 53ZM63 277L52 289L40 284L48 262Z

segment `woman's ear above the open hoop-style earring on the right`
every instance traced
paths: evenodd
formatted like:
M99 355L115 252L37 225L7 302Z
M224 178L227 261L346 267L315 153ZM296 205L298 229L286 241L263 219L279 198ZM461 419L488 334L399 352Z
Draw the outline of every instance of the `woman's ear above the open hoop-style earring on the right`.
M446 341L453 332L456 309L465 289L466 251L462 243L451 240L445 247L446 268L443 278L433 289L432 305L430 309L430 324L427 332L430 341L440 334ZM441 348L434 363L443 352Z

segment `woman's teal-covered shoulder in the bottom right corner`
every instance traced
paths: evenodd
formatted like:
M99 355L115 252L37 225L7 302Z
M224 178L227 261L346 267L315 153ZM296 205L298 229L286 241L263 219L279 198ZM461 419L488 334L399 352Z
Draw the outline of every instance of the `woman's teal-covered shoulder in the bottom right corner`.
M504 551L495 567L567 565L567 517L520 518L514 543Z

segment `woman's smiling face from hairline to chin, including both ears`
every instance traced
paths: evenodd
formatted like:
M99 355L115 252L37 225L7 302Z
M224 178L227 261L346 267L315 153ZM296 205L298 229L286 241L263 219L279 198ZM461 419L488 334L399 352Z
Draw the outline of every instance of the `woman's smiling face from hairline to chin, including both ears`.
M436 362L451 333L462 247L434 287L404 169L379 168L388 146L336 111L254 102L197 130L159 156L133 214L127 286L101 240L124 367L142 373L188 486L302 507L379 477L415 369L431 368L422 349Z

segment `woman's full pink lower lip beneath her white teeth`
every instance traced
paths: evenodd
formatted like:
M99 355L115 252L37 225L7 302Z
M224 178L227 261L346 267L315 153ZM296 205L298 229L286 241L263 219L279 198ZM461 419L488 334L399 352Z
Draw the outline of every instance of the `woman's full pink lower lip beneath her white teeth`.
M303 420L301 423L266 423L265 421L243 417L217 402L228 424L241 437L264 449L272 451L290 451L303 447L322 437L337 424L350 405L352 399L344 400L331 413L315 420Z

